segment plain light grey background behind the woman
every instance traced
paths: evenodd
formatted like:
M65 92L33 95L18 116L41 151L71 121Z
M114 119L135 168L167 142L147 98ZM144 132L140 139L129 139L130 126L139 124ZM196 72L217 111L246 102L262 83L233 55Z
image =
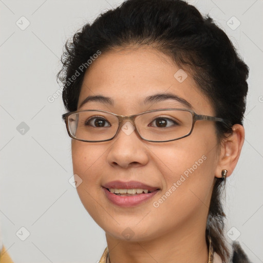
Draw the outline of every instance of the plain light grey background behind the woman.
M106 247L104 231L68 182L73 173L62 98L47 98L60 88L55 75L66 39L121 2L0 0L0 217L3 243L17 263L96 262ZM246 141L228 178L226 230L234 227L235 238L240 232L237 240L252 262L263 262L263 1L189 2L210 13L250 67ZM21 16L30 22L25 30L16 25ZM235 30L232 16L241 23ZM25 241L16 235L25 235L22 227L30 232Z

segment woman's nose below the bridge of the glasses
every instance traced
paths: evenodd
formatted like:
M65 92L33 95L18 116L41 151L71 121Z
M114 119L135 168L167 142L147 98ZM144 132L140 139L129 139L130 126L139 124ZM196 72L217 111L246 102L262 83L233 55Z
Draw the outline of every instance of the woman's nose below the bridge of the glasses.
M148 157L145 142L136 133L134 125L129 121L125 122L112 140L107 156L108 163L114 167L139 167L147 164Z

